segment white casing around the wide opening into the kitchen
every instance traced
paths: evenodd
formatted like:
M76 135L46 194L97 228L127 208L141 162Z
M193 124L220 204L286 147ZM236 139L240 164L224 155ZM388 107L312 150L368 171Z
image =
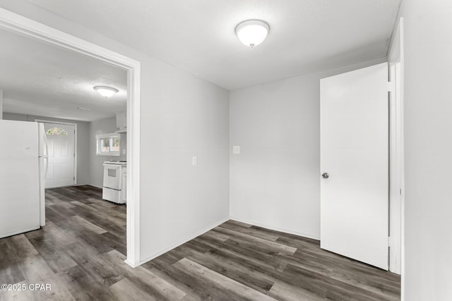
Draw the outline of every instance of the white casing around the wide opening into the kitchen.
M0 8L0 28L100 59L127 71L127 259L140 264L140 91L141 63L115 51Z

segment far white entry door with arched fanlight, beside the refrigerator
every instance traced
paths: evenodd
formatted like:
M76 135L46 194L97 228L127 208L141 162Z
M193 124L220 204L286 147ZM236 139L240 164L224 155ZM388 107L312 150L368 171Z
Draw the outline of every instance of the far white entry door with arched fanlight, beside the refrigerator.
M75 126L44 123L49 149L49 166L45 188L74 184Z

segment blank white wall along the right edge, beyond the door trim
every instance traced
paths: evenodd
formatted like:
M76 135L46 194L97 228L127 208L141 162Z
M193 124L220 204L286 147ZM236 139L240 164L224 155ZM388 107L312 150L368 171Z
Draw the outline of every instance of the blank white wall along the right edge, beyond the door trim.
M403 0L405 300L452 300L452 1Z

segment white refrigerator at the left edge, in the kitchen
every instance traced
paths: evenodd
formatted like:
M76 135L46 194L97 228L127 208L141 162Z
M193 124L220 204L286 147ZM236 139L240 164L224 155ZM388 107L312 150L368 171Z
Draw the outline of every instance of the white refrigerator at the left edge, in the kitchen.
M44 226L46 169L44 125L0 120L0 238Z

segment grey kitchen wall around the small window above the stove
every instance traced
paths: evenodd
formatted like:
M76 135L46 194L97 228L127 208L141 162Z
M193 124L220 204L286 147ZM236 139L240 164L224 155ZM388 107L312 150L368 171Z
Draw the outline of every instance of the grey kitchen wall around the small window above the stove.
M127 135L121 134L121 156L97 156L96 155L96 135L114 133L118 130L116 127L116 118L105 118L98 121L92 121L89 123L89 149L88 154L90 156L90 185L102 188L104 161L109 160L126 160L127 155L123 154L123 151L127 149Z

